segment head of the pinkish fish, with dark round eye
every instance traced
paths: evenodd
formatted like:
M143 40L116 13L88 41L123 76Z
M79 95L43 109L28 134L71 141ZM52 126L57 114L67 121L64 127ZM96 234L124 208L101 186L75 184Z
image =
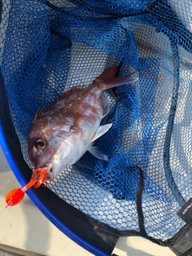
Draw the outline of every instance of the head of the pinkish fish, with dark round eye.
M55 130L46 120L34 122L28 135L28 155L34 168L46 170L53 180L74 158L74 138L65 130Z

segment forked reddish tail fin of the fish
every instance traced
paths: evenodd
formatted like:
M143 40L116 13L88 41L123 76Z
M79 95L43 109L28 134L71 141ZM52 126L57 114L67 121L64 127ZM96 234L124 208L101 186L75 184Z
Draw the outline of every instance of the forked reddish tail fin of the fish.
M125 77L116 78L115 71L117 66L111 66L109 69L105 70L100 76L94 81L97 82L98 88L100 90L106 90L115 86L121 86L126 83L132 83L138 81L138 78Z

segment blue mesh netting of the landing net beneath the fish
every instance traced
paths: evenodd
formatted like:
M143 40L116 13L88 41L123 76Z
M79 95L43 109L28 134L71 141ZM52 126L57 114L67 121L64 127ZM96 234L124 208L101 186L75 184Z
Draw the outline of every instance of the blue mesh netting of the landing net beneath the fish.
M107 67L134 75L108 90L113 123L95 145L50 182L50 190L117 230L139 230L136 199L144 178L146 234L165 241L182 228L177 212L192 196L190 0L2 1L0 57L10 114L27 156L39 107Z

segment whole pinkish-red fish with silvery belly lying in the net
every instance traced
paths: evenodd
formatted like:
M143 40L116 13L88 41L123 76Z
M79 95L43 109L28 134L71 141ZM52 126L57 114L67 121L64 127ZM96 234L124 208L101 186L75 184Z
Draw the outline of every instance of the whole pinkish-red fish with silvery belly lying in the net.
M103 90L132 83L138 78L116 78L116 66L105 70L88 87L74 86L47 110L35 114L28 135L28 154L36 168L44 168L47 180L73 165L89 151L96 158L108 160L93 142L112 124L100 126L109 112L110 100Z

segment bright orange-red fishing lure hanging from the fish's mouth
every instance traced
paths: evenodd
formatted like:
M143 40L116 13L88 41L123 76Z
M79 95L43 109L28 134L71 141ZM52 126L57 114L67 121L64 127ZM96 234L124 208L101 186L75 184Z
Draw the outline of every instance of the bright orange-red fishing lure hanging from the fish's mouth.
M44 183L43 183L44 182ZM24 198L24 194L26 190L29 190L31 186L34 188L38 188L39 186L47 186L46 183L46 170L42 168L35 169L31 176L30 182L23 186L22 188L10 190L10 192L6 195L6 207L7 206L15 206Z

